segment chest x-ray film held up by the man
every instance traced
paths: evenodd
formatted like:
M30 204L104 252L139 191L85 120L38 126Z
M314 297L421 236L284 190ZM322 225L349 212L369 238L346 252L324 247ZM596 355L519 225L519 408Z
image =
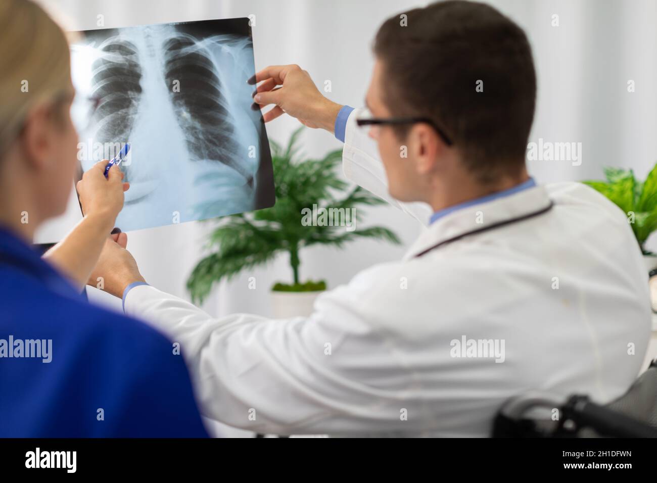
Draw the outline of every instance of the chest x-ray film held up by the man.
M80 32L73 83L83 170L129 143L124 231L272 206L271 154L252 110L248 18Z

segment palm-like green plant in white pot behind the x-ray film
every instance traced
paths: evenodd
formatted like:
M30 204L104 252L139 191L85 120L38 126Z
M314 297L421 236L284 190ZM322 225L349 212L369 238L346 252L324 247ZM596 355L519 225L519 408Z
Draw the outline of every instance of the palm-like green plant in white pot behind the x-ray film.
M275 206L215 220L217 227L208 240L210 254L198 262L187 280L194 302L202 302L222 279L229 280L244 269L286 253L291 277L287 283L272 287L273 315L309 315L314 299L327 285L323 280L300 279L300 252L304 248L342 247L358 238L399 243L395 233L385 227L356 227L357 207L383 204L384 200L361 187L349 189L348 183L340 179L337 168L342 162L342 150L329 152L320 160L300 160L298 140L302 129L294 131L285 149L270 141ZM362 219L357 221L361 223Z

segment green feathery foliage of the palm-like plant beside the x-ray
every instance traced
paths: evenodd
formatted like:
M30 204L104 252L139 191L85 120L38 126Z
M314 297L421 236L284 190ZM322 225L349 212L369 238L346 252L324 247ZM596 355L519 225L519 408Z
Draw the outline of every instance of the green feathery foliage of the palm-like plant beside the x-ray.
M358 238L399 243L387 228L359 229L364 218L360 208L385 203L360 187L351 188L341 173L342 149L328 152L321 159L298 159L302 128L292 133L285 149L270 141L276 204L252 213L215 219L217 226L208 237L210 253L194 267L187 288L195 302L202 302L215 283L231 279L243 269L273 260L281 253L290 254L290 275L298 273L292 264L298 250L313 244L341 247ZM355 231L344 225L304 226L302 210L318 208L357 210ZM294 256L293 256L294 255ZM296 259L298 260L298 259ZM291 277L294 279L294 277Z

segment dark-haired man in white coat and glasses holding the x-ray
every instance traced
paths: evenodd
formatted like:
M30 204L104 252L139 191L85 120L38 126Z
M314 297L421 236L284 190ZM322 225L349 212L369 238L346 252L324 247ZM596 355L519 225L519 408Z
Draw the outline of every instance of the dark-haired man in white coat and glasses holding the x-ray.
M328 101L298 66L255 80L256 102L275 104L265 121L334 132L346 177L428 225L403 260L325 292L307 318L217 319L106 244L92 280L181 344L208 417L277 434L487 436L507 398L605 403L639 373L650 307L627 219L584 185L526 172L524 32L478 3L404 13L408 26L394 16L376 35L367 111Z

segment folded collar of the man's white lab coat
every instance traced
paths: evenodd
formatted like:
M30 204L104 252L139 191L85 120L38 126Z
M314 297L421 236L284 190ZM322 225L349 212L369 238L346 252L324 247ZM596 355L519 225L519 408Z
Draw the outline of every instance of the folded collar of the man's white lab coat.
M551 200L545 187L535 186L514 195L461 208L429 225L428 229L411 246L404 256L404 260L410 260L440 242L466 235L470 231L480 230L486 226L522 218L548 208L550 204ZM476 234L473 235L473 237L476 236Z

